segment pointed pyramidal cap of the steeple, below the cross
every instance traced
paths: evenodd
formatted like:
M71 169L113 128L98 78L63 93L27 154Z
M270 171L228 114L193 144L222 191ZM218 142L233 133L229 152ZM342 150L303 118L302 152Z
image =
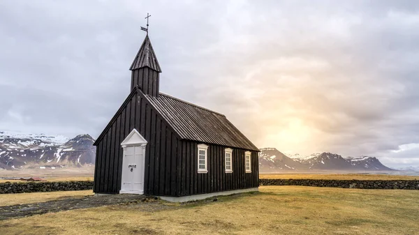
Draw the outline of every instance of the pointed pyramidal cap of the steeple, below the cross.
M154 54L152 43L150 42L148 34L145 36L144 42L142 42L140 50L138 51L137 56L135 56L133 64L129 70L136 70L144 67L151 68L152 70L156 70L161 73L159 61L157 61L156 54Z

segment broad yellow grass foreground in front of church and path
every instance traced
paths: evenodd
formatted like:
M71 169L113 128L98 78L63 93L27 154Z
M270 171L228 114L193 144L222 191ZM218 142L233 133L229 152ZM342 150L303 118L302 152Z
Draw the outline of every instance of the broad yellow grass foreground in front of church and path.
M162 202L160 202L162 203ZM3 220L1 234L417 234L419 192L263 186L218 202L103 206ZM159 205L156 205L159 206Z

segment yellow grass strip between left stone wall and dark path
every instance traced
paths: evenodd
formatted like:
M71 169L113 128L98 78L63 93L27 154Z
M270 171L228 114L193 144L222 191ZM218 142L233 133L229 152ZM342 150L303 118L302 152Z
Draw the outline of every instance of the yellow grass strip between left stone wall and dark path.
M47 202L50 200L63 199L66 197L84 197L93 195L92 190L60 191L60 192L31 192L0 195L0 206L15 204L28 204L35 202Z

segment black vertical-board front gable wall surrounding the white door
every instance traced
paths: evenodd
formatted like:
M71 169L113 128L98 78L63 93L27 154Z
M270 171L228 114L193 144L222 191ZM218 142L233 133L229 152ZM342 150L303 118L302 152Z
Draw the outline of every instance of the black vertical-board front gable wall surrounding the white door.
M179 140L166 121L138 93L127 100L98 142L94 192L119 193L122 180L121 142L135 128L145 137L145 185L147 195L177 195L177 151Z

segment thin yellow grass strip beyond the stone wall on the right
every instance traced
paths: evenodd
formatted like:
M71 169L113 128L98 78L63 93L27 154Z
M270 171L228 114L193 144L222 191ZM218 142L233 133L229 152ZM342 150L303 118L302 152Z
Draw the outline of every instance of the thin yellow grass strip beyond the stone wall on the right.
M388 174L259 174L259 179L419 180L419 176Z

